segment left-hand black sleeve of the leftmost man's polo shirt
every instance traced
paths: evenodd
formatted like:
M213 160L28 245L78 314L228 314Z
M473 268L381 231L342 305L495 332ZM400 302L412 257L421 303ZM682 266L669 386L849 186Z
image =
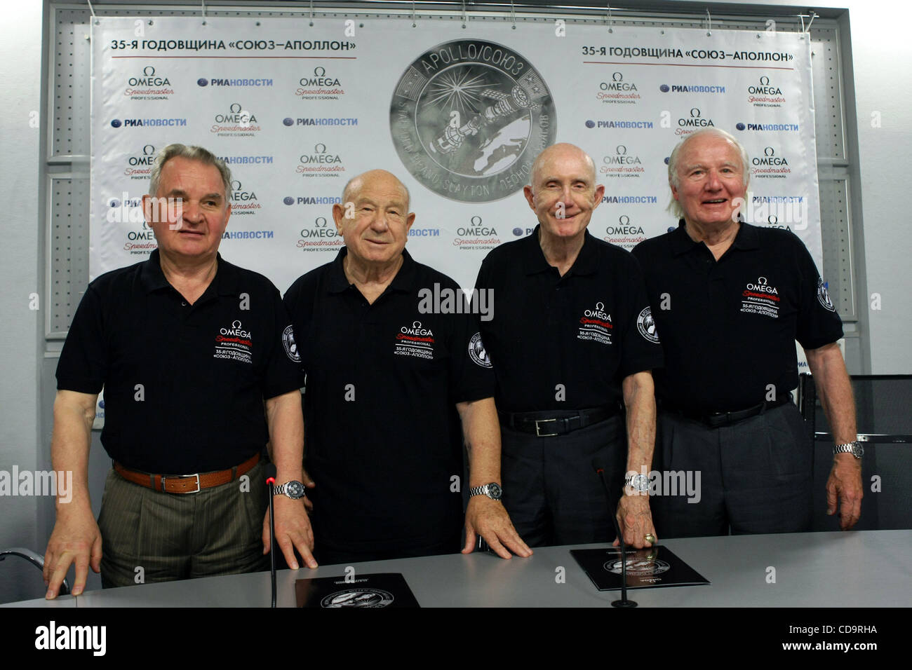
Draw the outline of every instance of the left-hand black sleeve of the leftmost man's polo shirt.
M79 301L60 352L57 389L98 394L108 375L108 366L103 301L96 284L90 283Z

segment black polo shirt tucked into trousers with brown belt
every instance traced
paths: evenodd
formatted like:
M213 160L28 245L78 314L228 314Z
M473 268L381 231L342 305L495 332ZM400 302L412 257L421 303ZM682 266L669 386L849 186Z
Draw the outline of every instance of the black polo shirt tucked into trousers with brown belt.
M268 439L264 398L299 388L290 324L268 279L221 256L205 293L187 303L161 273L156 250L88 284L57 388L104 387L101 443L128 468L231 468Z

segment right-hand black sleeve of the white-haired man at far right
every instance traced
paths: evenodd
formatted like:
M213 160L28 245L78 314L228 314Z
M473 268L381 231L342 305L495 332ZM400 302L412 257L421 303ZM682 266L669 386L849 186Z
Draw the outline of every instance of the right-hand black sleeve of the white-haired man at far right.
M807 247L797 236L793 235L793 238L801 276L795 339L805 349L818 349L843 336L843 321L836 313L836 306L830 299L826 284L817 272L817 266Z

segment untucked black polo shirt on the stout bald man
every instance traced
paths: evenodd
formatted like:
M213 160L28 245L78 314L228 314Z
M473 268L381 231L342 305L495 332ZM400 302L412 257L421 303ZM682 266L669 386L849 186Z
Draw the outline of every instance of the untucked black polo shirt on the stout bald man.
M420 311L420 289L457 283L403 252L373 304L336 260L285 294L302 346L306 468L317 542L395 551L445 541L462 522L458 402L492 397L470 314Z

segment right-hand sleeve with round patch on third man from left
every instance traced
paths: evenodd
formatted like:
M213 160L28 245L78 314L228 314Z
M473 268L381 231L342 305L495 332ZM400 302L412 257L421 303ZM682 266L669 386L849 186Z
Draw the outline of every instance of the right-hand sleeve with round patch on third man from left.
M646 292L646 279L639 261L627 255L627 328L618 376L623 379L637 372L645 372L664 365L662 345L658 339L656 322Z

